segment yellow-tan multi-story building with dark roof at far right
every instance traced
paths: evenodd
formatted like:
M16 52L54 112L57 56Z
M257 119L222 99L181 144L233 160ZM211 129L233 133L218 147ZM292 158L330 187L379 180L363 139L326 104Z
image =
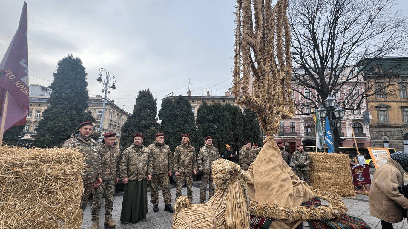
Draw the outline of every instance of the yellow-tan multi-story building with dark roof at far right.
M367 99L371 146L408 152L408 57L386 57L364 68L375 95Z

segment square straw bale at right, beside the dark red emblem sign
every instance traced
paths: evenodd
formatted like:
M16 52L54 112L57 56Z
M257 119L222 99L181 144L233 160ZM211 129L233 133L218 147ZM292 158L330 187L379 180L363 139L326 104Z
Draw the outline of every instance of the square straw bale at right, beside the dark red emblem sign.
M310 185L313 188L336 193L344 197L355 197L350 158L346 154L309 153Z

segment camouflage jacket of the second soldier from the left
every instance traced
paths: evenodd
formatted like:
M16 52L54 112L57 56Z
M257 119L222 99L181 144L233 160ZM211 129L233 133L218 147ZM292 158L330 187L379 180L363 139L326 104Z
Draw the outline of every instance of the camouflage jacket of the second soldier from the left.
M102 163L102 181L109 181L115 178L119 178L119 155L120 150L116 145L111 147L103 143L99 144L99 151L101 154Z

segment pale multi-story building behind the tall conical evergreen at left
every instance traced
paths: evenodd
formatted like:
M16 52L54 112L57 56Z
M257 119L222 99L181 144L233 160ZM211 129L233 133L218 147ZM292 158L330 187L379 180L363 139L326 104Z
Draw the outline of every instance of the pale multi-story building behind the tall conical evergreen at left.
M29 113L24 128L25 135L22 137L22 140L26 142L33 140L38 121L42 118L42 112L49 106L48 98L50 97L51 91L51 88L38 84L29 86ZM122 128L130 113L116 105L113 100L109 98L106 99L104 123L101 128L103 97L100 95L89 97L88 105L87 112L91 113L95 118L95 130L100 131L101 134L105 132L116 132L118 141L120 141L120 128Z

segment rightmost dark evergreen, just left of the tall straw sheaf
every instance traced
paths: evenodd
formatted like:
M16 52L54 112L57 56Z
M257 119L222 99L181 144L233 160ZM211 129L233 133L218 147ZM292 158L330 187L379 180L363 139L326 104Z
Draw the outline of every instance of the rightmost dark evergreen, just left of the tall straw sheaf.
M247 108L244 108L244 114L242 119L242 123L244 124L244 141L242 145L246 141L251 141L251 143L258 143L258 145L261 146L262 139L258 115Z

